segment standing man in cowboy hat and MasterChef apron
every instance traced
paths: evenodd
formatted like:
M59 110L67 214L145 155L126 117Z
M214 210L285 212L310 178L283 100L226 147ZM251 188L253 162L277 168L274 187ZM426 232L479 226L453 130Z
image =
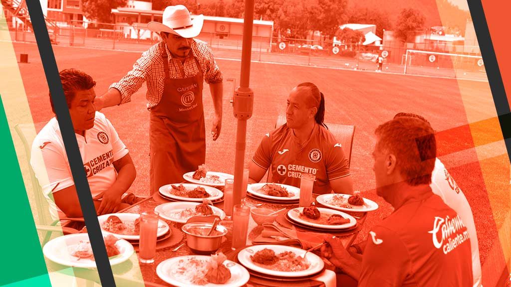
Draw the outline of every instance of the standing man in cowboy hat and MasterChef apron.
M192 20L182 5L168 6L162 22L147 28L162 41L142 54L133 69L96 99L97 110L130 102L147 81L150 111L151 193L162 185L182 181L182 175L204 163L206 154L202 85L210 85L215 107L213 140L222 126L222 73L210 47L193 39L199 35L203 15Z

